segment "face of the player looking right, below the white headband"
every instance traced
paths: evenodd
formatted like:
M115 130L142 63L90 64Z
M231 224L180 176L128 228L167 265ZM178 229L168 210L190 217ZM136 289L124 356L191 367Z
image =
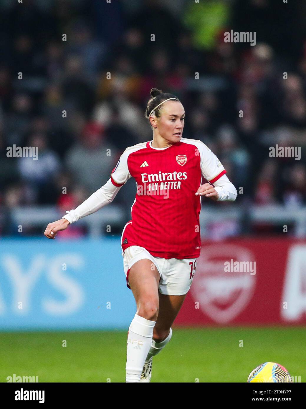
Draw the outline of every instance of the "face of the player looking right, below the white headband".
M159 134L168 142L179 142L183 135L184 118L184 107L179 101L165 102L157 120Z

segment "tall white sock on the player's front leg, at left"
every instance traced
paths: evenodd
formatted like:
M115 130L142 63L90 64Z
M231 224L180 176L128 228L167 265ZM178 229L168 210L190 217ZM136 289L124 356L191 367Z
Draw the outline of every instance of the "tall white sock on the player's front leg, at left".
M156 321L135 314L127 334L127 376L125 382L140 382L145 358L149 352Z

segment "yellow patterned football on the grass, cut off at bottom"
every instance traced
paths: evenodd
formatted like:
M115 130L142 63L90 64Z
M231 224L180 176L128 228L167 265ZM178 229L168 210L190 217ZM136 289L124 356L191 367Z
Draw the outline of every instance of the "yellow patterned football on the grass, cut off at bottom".
M253 369L247 382L292 382L286 368L275 362L265 362Z

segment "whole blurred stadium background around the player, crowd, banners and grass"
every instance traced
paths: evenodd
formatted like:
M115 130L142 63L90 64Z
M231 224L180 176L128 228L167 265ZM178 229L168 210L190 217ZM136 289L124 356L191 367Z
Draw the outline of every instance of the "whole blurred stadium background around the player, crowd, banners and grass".
M305 382L306 7L292 3L1 3L0 382L123 382L135 302L120 233L135 182L56 240L43 231L152 139L153 87L180 98L183 136L211 148L239 194L202 202L197 272L152 381L245 382L272 361ZM231 29L256 45L224 43ZM39 159L7 157L14 144ZM301 160L269 157L276 144ZM224 274L231 258L256 261L256 275Z

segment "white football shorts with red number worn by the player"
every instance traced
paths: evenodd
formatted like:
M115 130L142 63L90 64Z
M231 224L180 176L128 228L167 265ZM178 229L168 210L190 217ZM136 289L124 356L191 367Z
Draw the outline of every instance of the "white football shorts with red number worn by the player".
M188 292L196 269L196 258L161 258L154 257L144 247L130 246L123 255L123 268L129 286L129 269L136 261L148 258L156 265L161 278L159 292L168 295L183 295Z

